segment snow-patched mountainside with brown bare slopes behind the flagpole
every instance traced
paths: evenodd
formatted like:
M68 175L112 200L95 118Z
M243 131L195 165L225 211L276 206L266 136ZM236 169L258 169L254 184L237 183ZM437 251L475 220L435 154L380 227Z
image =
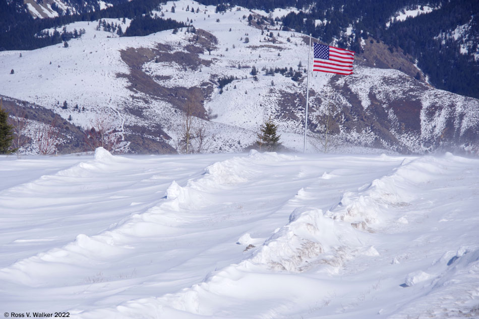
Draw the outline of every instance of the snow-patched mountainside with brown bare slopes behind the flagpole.
M133 152L173 151L187 105L208 131L209 151L254 144L269 117L279 126L283 145L302 150L309 38L255 20L287 13L241 7L215 13L214 6L168 2L153 14L192 23L195 30L144 37L118 37L98 28L98 21L72 23L67 31L86 33L68 47L0 52L0 94L71 118L83 129L108 116ZM130 23L104 20L123 30ZM353 75L311 71L308 150L321 150L318 138L324 138L329 114L335 147L477 152L477 99L434 89L400 51L391 53L374 39L361 45ZM299 71L301 78L266 74L280 68ZM234 80L219 88L226 77ZM65 101L69 106L62 109Z

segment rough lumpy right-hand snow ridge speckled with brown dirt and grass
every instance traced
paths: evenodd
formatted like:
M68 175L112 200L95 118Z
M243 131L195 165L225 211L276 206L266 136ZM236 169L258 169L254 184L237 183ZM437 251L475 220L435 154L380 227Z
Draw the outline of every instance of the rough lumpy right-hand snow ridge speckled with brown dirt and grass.
M345 192L341 201L325 213L316 207L298 207L251 257L269 269L302 272L312 265L327 264L337 272L355 253L378 254L365 247L354 229L375 232L391 209L409 204L410 189L427 182L446 168L433 157L403 161L395 172L372 181L356 192ZM352 226L352 227L351 227Z

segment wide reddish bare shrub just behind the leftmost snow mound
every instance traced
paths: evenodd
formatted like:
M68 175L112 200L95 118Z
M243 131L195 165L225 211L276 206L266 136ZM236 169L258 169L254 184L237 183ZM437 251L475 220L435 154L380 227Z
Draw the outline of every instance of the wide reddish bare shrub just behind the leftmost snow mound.
M91 150L103 147L109 152L118 151L122 138L118 135L114 119L109 116L96 116L90 122L90 129L84 132L85 143Z

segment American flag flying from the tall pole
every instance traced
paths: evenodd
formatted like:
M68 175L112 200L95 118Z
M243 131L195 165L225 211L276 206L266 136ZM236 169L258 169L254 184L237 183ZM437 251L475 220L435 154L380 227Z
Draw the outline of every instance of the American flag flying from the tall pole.
M314 43L313 71L349 75L352 74L354 51Z

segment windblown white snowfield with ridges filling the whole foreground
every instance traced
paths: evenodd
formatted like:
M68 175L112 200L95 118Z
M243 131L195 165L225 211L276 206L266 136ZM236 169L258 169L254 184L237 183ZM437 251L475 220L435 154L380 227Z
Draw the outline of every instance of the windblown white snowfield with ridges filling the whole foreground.
M0 156L0 176L9 316L479 312L477 159L97 149Z

